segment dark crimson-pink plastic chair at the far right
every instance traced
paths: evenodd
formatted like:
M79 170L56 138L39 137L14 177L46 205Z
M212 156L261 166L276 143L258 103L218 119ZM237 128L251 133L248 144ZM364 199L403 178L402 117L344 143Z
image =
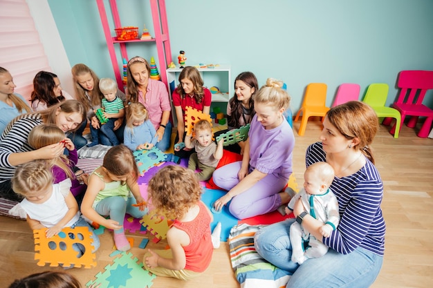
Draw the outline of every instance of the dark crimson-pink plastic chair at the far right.
M433 110L423 105L423 99L427 90L433 89L433 71L403 70L398 76L397 86L400 93L392 106L400 111L402 122L406 116L412 116L407 123L410 128L416 126L418 117L426 117L418 137L427 137L433 122ZM389 125L390 122L391 119L387 118L383 124ZM396 125L391 128L391 133L394 133L395 129Z

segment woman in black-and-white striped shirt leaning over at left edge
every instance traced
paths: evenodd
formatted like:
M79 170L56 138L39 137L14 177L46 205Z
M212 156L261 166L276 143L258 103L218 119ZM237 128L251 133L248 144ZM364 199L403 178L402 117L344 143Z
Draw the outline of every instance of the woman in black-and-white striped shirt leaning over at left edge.
M45 111L19 115L12 119L0 137L0 197L21 200L10 180L18 165L39 159L53 159L64 152L64 144L56 143L34 150L28 144L30 131L40 124L55 124L64 133L73 131L86 119L86 111L77 100L66 100Z

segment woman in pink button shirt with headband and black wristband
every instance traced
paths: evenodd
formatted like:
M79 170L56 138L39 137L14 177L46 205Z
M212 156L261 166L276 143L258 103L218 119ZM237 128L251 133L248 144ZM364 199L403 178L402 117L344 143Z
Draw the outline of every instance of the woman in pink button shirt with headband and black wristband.
M140 102L146 107L158 137L156 147L166 151L172 137L169 121L172 106L167 87L161 81L150 79L150 65L142 57L133 57L127 65L127 102Z

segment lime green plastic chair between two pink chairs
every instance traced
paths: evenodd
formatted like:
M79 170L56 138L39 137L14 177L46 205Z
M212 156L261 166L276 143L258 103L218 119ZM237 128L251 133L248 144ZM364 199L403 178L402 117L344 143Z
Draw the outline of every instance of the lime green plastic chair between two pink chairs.
M401 115L398 110L386 107L385 104L387 103L387 97L388 97L388 91L389 86L385 83L374 83L370 84L369 88L367 88L367 93L365 93L365 97L362 100L362 102L369 104L371 108L376 111L376 114L378 115L378 118L380 120L383 120L385 117L391 117L396 119L396 131L394 133L391 132L391 134L394 134L394 138L398 138L398 132L400 131L400 125L401 125ZM382 121L380 121L382 122Z

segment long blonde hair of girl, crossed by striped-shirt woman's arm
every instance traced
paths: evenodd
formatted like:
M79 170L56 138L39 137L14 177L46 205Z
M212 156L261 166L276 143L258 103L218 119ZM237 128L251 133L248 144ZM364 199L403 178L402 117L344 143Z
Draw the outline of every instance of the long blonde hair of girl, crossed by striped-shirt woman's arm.
M37 150L51 144L59 143L64 140L64 138L65 135L59 127L54 124L42 124L36 126L32 131L30 131L27 141L30 146ZM73 171L69 168L69 164L71 163L65 155L44 161L48 164L48 167L51 170L53 170L54 166L58 166L69 178L75 179Z

